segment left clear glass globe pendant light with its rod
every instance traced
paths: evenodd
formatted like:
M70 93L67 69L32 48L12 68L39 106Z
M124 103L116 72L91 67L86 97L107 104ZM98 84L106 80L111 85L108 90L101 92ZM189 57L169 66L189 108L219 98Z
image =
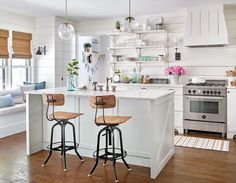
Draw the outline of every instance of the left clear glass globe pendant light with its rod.
M58 36L63 40L70 40L74 33L74 27L67 22L67 0L65 0L65 22L58 27Z

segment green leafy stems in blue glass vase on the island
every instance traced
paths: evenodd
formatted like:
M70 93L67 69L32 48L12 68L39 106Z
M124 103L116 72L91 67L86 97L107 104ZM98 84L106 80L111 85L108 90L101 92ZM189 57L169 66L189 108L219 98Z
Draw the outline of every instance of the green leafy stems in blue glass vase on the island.
M67 64L67 71L69 72L67 78L67 89L68 91L74 91L77 88L77 76L79 70L79 61L77 59L73 59L71 62Z

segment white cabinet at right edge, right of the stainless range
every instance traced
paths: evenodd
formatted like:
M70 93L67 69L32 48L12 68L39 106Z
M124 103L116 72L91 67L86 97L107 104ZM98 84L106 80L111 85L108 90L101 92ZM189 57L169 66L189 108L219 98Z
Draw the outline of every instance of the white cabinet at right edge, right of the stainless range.
M236 88L227 93L227 138L236 135Z

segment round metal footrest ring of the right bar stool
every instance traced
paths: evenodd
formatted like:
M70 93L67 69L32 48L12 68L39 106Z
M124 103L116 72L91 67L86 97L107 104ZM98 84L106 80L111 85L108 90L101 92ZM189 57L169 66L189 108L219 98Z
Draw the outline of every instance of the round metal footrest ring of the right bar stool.
M126 156L127 156L127 152L125 150L123 150L123 157L122 157L121 149L115 148L114 157L116 160L125 158ZM107 148L107 151L106 151L106 148L99 149L99 156L97 156L97 151L94 151L93 157L95 159L98 158L98 159L111 160L111 161L114 159L112 148Z

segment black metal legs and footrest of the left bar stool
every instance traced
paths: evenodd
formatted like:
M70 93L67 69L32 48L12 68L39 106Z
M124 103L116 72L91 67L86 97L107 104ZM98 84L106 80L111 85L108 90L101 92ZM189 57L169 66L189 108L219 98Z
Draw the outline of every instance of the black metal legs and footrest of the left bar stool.
M65 140L65 127L67 124L70 124L72 126L73 129L73 146L69 146L66 145L66 140ZM54 128L55 126L60 125L61 127L61 142L60 142L60 146L58 147L54 147L53 148L53 132L54 132ZM58 143L58 142L57 142ZM50 140L50 145L49 145L49 155L46 159L46 161L44 162L44 164L42 166L45 166L48 162L48 160L50 159L51 155L52 155L52 151L60 151L61 157L63 157L64 160L64 171L67 171L67 164L66 164L66 151L68 150L75 150L75 153L77 154L77 156L80 158L80 160L83 162L84 160L82 159L82 157L80 156L80 154L77 151L77 143L76 143L76 137L75 137L75 127L73 125L73 123L69 122L69 121L58 121L56 124L54 124L52 126L51 129L51 140Z

